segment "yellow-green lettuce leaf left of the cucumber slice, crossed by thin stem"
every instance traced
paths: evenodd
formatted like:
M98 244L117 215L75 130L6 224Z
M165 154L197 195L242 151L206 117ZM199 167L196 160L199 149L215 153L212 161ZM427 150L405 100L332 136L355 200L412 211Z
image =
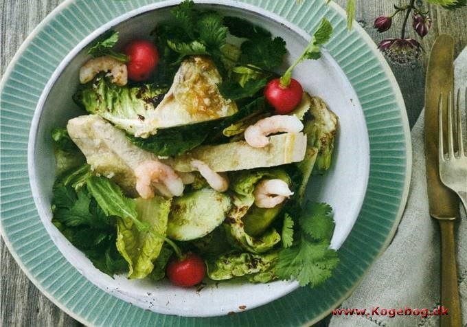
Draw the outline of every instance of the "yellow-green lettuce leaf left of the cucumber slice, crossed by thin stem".
M171 200L155 196L150 200L135 199L137 216L146 225L147 231L139 230L128 218L117 221L117 249L128 262L128 278L141 279L154 268L167 231Z

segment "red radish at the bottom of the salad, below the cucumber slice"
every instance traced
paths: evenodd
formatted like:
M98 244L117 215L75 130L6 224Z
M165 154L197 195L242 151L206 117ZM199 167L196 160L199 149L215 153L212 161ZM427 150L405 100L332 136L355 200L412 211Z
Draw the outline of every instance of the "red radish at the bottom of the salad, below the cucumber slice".
M206 266L196 254L189 253L182 260L172 260L167 265L167 276L170 281L183 287L194 286L203 280Z

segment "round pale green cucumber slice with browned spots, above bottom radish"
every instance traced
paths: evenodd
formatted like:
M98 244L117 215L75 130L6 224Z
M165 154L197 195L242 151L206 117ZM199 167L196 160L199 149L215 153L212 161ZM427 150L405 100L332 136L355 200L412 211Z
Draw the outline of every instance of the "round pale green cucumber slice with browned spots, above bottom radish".
M231 205L229 196L211 188L203 188L174 198L167 236L174 240L201 238L224 221Z

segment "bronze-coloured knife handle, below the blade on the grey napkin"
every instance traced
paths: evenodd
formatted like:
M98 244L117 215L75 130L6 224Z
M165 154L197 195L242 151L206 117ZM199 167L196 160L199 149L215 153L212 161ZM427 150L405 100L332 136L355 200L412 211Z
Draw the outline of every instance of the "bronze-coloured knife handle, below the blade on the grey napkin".
M448 308L448 315L441 316L441 327L457 327L462 324L457 265L454 241L455 221L440 221L441 230L441 305Z

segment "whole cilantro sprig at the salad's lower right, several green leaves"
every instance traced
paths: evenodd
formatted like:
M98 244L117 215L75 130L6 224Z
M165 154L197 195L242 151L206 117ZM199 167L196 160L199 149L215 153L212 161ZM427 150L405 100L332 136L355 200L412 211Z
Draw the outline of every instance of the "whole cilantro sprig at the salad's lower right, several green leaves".
M284 280L295 278L301 286L315 287L330 278L339 264L337 252L329 248L334 231L332 209L326 203L306 203L301 211L297 231L291 216L284 218L284 249L279 252L275 273Z

